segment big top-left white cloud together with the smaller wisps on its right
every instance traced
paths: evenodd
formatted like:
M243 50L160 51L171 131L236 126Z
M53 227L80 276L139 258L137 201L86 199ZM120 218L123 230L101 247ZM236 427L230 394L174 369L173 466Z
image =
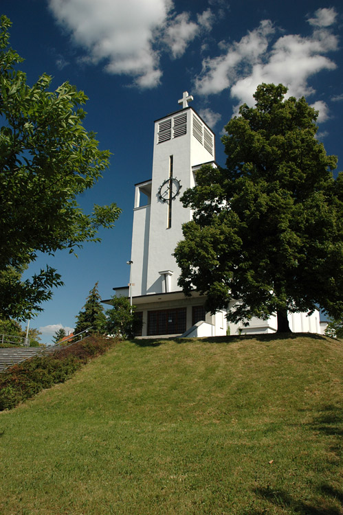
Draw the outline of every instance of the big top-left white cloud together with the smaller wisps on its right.
M210 9L195 14L175 14L173 0L48 0L56 20L77 45L85 49L80 60L105 62L108 73L133 77L135 84L159 84L161 52L170 49L182 56L203 30L211 30Z

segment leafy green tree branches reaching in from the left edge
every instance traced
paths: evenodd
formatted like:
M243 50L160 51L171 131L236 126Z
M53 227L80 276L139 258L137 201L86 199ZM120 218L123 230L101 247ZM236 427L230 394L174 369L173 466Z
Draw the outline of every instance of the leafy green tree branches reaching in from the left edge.
M113 227L115 205L94 205L85 214L77 197L91 188L109 165L94 133L82 125L87 96L69 83L49 91L43 74L32 87L22 58L9 46L10 21L0 19L0 317L26 319L41 310L59 286L60 275L47 267L32 280L23 270L38 252L73 253L82 243L99 241L100 227Z

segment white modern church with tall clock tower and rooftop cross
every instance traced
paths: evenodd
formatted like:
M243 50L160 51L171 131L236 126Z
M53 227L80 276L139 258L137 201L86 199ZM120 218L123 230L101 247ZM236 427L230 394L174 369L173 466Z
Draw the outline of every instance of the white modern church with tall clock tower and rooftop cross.
M197 292L185 297L177 284L180 270L173 252L183 238L182 224L192 219L181 194L195 186L201 165L216 166L214 133L188 105L191 100L185 91L179 100L181 109L155 121L152 176L135 185L130 282L113 290L117 297L131 299L142 319L142 331L137 334L142 338L276 332L276 316L267 321L252 319L247 327L228 323L226 311L206 313L206 297ZM311 317L289 314L289 327L294 332L320 333L319 312Z

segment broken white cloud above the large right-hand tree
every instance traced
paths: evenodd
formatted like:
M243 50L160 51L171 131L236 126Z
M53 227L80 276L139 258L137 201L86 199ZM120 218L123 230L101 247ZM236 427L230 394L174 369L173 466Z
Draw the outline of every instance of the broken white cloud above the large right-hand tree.
M335 21L335 15L334 9L316 11L316 18L310 20L313 34L308 37L287 34L273 44L274 25L270 20L263 20L238 43L221 42L223 54L203 60L201 76L195 80L197 91L210 94L230 89L230 95L239 104L250 105L261 82L285 84L289 95L297 98L315 93L308 79L324 69L336 68L335 62L324 55L338 49L338 37L325 28ZM324 110L321 106L320 111L324 113L320 121L324 121L327 107Z

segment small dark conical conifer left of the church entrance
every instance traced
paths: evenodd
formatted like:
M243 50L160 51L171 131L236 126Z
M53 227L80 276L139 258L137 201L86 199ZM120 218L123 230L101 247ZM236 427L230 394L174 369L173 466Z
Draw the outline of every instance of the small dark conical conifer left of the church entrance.
M101 297L98 292L98 283L89 291L83 311L80 311L76 317L76 328L74 334L92 328L92 332L104 332L106 317L104 308L101 304Z

